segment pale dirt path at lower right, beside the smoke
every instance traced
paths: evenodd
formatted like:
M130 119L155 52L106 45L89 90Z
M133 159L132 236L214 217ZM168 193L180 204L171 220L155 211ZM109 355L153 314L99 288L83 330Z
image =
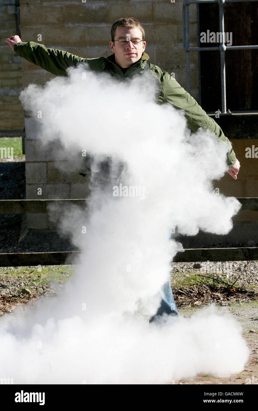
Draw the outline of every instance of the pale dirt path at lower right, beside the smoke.
M228 307L234 319L237 319L242 325L243 337L246 340L250 351L248 362L244 369L238 374L232 374L230 377L222 378L212 375L199 374L191 380L175 381L175 384L257 384L258 385L258 302L238 303ZM179 314L186 318L196 312L197 309L179 309ZM249 332L249 330L255 332Z

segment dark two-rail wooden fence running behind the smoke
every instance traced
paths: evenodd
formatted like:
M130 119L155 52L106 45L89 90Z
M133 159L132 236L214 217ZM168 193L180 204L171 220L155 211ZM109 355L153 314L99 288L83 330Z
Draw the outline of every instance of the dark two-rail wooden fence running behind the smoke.
M90 199L66 200L0 200L0 214L46 213L47 207L57 203L62 205L86 205ZM238 198L241 210L258 211L258 198ZM39 253L4 253L0 254L0 267L15 266L50 266L75 263L79 251L39 252ZM246 261L258 260L258 247L223 247L193 248L178 252L173 262L205 262L205 261Z

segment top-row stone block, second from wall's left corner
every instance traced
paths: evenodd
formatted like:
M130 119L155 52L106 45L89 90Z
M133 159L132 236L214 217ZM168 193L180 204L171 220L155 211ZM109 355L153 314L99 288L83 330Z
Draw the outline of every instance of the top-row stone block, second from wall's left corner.
M102 3L77 3L65 6L65 24L107 23L109 7Z

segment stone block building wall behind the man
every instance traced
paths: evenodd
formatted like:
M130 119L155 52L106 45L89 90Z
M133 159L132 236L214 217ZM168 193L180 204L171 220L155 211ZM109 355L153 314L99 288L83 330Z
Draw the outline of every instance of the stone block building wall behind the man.
M19 4L18 4L19 3ZM183 0L2 0L1 9L1 93L0 103L4 106L5 117L0 119L0 129L10 132L23 128L23 115L18 100L21 85L30 83L44 85L54 76L34 64L19 58L7 46L4 39L18 32L15 13L20 15L21 39L41 42L48 48L59 48L70 53L94 58L111 54L109 49L112 23L123 16L133 16L143 25L146 32L146 53L150 62L164 71L174 73L176 80L186 88L186 52L183 47ZM17 8L18 7L18 8ZM198 18L196 4L190 10L190 46L198 46ZM10 64L12 63L12 64ZM191 53L191 95L199 102L198 53ZM22 76L21 76L22 74ZM212 81L212 79L211 79ZM220 89L220 84L217 85ZM8 104L15 109L11 117ZM203 107L205 109L205 107ZM214 110L217 108L215 107ZM255 111L255 110L254 110ZM240 119L241 117L241 119ZM218 123L230 139L233 149L241 163L241 172L236 181L225 175L215 182L221 193L236 197L256 197L258 191L257 159L245 157L245 148L257 146L258 133L253 132L256 115L250 117L250 128L246 118L238 120L221 118ZM235 116L236 118L236 116ZM244 130L244 131L243 131ZM88 194L88 182L77 173L60 171L51 151L42 152L41 143L35 136L33 120L25 117L26 154L26 198L38 199L37 188L42 187L41 199L82 198ZM244 138L244 139L243 139ZM66 159L60 159L65 162ZM64 169L64 167L63 167ZM239 212L236 225L243 230L255 230L250 224L257 220L257 212ZM50 230L55 226L47 214L28 214L27 230ZM252 227L252 228L251 228ZM234 231L228 238L234 237ZM247 237L246 237L247 238ZM250 239L250 238L249 238Z

